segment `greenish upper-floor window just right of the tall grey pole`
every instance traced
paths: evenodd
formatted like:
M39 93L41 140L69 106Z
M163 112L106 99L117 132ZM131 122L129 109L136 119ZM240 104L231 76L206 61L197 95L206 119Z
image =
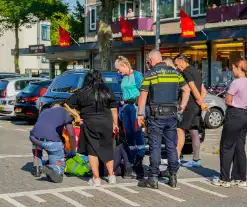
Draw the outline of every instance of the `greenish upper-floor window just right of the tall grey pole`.
M184 7L185 0L161 0L160 3L160 18L173 19L178 18L180 8Z

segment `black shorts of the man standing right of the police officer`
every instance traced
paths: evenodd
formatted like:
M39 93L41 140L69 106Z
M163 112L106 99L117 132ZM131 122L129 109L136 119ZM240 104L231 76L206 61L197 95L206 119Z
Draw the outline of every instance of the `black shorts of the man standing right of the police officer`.
M189 105L183 112L182 121L178 122L177 128L183 130L200 129L201 108L198 105Z

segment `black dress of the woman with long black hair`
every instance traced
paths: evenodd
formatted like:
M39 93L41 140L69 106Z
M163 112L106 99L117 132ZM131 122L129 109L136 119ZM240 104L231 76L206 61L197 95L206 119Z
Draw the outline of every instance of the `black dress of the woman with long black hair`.
M83 125L80 130L78 153L97 156L103 162L113 160L113 118L111 108L117 108L116 97L110 90L109 100L97 111L96 101L87 91L75 92L67 101L80 111Z

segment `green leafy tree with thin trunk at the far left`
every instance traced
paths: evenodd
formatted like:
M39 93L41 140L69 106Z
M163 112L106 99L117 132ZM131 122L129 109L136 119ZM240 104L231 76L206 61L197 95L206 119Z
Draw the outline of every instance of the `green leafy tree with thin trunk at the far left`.
M67 13L68 5L60 0L0 0L0 23L4 31L15 32L15 71L19 68L19 31L31 28L39 21L50 19L54 13Z

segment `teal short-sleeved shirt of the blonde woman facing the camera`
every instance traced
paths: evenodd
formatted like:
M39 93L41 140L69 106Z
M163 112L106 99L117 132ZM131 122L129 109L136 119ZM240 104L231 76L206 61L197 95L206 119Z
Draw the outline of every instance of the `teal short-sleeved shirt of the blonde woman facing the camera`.
M123 99L135 99L140 95L140 88L143 81L142 73L134 71L131 75L125 75L122 79L121 89L123 92Z

